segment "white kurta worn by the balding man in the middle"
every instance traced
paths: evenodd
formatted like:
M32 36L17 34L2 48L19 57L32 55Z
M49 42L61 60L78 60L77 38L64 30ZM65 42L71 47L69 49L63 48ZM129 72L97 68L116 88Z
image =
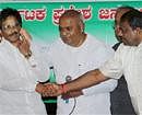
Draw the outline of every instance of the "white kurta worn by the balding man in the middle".
M84 72L98 68L114 55L114 50L91 35L80 47L71 47L61 39L51 45L48 51L49 65L54 66L58 83L66 82L66 77L72 80ZM117 87L117 80L108 80L96 87L83 90L84 95L76 97L76 105L71 115L110 115L109 92ZM57 114L69 115L74 105L74 99L66 103L58 97Z

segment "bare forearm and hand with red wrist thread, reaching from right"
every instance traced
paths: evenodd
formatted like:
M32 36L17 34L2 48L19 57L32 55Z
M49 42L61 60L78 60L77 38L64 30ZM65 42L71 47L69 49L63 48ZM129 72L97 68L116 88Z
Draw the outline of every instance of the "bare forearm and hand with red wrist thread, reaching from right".
M108 78L106 78L98 69L95 69L80 76L78 79L71 82L64 84L52 84L54 89L51 91L45 92L45 95L57 96L71 91L82 90L106 80L108 80ZM47 84L47 87L49 85Z

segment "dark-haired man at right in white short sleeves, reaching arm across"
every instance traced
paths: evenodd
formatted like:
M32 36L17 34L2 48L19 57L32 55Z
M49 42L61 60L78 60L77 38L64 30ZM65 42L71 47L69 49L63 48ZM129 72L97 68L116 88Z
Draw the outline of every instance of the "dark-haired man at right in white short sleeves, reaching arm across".
M82 90L109 78L119 79L123 73L129 93L138 115L142 114L142 13L133 10L121 16L120 32L122 44L115 56L99 69L91 70L76 80L64 84L52 84L55 90L49 95L60 95L73 90Z

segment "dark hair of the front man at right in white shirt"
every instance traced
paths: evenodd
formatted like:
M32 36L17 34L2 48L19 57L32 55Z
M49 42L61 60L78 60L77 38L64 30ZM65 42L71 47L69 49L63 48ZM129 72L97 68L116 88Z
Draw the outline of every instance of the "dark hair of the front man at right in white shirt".
M121 16L120 23L121 22L128 22L132 30L137 27L142 28L142 12L130 10Z

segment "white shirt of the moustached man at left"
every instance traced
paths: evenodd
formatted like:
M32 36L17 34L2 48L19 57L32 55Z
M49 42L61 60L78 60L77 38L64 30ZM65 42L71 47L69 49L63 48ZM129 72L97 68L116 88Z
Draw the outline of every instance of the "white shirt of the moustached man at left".
M0 43L0 115L46 115L37 81L47 80L47 71L35 46L29 59L7 41Z

